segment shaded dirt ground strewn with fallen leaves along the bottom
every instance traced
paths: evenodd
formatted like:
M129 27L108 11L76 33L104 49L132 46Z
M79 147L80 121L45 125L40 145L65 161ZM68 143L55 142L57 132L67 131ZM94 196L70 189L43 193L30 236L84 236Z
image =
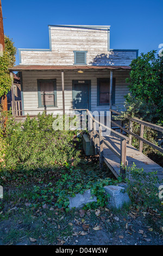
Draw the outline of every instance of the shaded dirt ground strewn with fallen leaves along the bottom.
M1 220L0 245L163 245L160 215L133 206L67 214L49 208L23 211L13 209Z

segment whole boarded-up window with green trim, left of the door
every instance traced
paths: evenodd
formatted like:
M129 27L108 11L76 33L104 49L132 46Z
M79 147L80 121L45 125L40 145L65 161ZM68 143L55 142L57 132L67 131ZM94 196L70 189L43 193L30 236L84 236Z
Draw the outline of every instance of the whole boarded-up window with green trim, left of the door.
M38 80L39 107L57 106L56 80Z

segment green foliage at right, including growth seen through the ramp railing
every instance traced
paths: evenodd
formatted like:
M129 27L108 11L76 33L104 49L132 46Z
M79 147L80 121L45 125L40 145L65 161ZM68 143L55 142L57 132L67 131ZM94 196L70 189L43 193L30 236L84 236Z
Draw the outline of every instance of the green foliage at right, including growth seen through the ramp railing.
M155 57L156 51L141 53L134 59L130 66L129 83L130 93L125 96L125 111L115 120L122 120L128 127L129 118L139 118L149 123L163 125L163 57ZM133 122L133 133L140 136L140 124ZM144 128L143 137L155 145L159 145L158 132L147 126ZM139 149L139 140L132 137L132 145ZM143 143L143 154L163 167L163 154Z

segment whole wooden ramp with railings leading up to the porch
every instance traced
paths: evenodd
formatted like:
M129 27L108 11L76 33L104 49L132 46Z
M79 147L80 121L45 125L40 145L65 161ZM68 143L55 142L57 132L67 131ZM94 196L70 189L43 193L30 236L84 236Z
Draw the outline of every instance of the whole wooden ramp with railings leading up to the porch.
M111 127L99 123L99 121L92 116L89 110L87 110L87 114L90 117L91 124L89 130L90 142L91 144L95 145L96 154L99 153L100 167L102 167L104 161L116 177L120 176L121 174L124 178L125 167L131 166L133 163L135 163L137 168L143 168L144 172L146 173L157 172L156 175L158 176L159 180L163 179L163 168L142 153L143 143L147 143L151 147L163 153L163 149L161 147L143 138L144 126L151 127L152 129L158 130L160 132L163 132L163 127L147 123L140 119L131 118L129 120L129 129L127 130L123 126L120 126L116 124L115 121L111 120L111 123L117 125L118 129L121 131L117 132L111 129ZM131 129L131 121L136 121L140 124L140 136L133 133ZM105 132L103 132L103 130L105 130ZM126 135L123 135L123 131L126 132L126 134L128 133L129 136L127 137ZM139 150L131 145L131 136L139 139ZM123 163L123 166L121 166L121 163Z

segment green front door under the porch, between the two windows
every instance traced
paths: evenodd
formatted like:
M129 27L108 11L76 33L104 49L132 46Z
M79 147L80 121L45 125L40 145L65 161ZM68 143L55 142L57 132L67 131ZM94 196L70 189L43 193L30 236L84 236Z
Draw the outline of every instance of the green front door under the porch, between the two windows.
M72 81L72 100L74 109L90 109L90 81Z

